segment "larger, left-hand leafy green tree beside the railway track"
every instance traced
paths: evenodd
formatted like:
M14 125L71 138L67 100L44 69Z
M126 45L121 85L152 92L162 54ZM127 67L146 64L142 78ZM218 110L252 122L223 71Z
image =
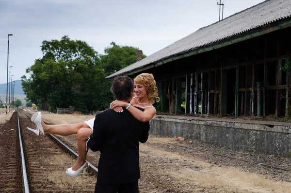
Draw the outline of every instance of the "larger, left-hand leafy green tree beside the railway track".
M31 77L22 76L27 98L35 104L37 100L47 99L54 111L56 107L69 106L82 112L94 109L91 92L96 80L104 76L97 68L98 53L86 42L67 36L60 41L43 41L41 50L43 58L35 60L26 70Z

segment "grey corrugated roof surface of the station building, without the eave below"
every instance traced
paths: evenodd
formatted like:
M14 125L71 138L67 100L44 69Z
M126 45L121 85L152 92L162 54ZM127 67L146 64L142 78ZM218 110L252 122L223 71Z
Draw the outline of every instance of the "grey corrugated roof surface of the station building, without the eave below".
M132 70L140 69L173 55L195 50L289 17L291 17L291 0L266 0L219 22L200 28L196 32L113 73L107 78L113 78Z

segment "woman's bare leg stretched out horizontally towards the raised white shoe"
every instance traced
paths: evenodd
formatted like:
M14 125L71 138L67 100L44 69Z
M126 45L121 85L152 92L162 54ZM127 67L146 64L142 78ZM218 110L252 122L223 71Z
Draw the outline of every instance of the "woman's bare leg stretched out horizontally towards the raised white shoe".
M91 129L86 123L48 125L41 121L41 125L46 134L57 134L62 136L77 134L81 128Z

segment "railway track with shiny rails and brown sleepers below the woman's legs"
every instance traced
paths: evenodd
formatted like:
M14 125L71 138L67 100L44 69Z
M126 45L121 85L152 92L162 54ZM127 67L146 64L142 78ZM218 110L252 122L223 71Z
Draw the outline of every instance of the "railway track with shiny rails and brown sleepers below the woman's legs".
M18 125L17 125L18 123ZM74 163L78 154L53 135L35 136L26 127L35 128L24 111L13 114L10 120L13 132L9 145L9 158L1 171L5 182L4 193L92 193L97 168L90 165L91 172L72 178L65 169ZM20 136L20 137L19 137ZM22 144L21 144L22 142ZM80 177L81 176L81 177ZM1 186L0 186L1 187Z

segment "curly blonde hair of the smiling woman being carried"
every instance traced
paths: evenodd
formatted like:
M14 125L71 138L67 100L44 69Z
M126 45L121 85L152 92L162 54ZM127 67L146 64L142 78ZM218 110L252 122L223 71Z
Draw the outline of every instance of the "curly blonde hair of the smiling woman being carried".
M158 88L156 85L156 81L154 79L154 76L149 73L142 73L140 75L137 75L133 82L135 84L144 85L147 92L147 98L148 100L154 104L156 101L160 101L160 97L158 97Z

